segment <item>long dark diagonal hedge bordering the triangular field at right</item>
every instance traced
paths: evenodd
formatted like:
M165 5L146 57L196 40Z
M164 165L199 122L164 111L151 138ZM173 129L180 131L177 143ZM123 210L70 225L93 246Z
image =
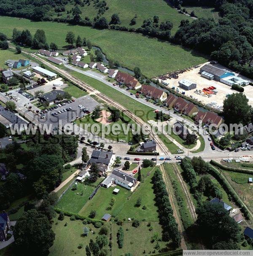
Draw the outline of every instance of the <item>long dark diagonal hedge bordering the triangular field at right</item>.
M226 193L233 199L237 206L241 208L241 212L244 214L245 218L249 220L250 215L248 213L248 210L245 208L245 206L242 205L240 198L237 196L237 194L235 194L234 191L231 190L231 188L229 187L229 183L220 175L218 171L213 168L213 166L210 167L209 173L218 180Z

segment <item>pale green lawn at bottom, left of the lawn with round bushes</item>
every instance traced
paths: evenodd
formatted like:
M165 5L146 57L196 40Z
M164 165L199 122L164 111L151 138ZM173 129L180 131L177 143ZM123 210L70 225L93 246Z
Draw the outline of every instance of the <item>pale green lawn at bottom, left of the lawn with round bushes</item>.
M67 216L65 216L62 221L57 218L58 214L54 218L54 222L52 224L52 229L55 233L55 240L54 245L49 249L49 256L86 255L86 245L89 245L90 239L95 241L100 228L94 228L92 224L84 225L81 220L70 220L70 217ZM67 223L67 226L65 226L65 223ZM95 231L95 234L89 232L88 236L84 237L82 234L85 226ZM83 248L78 249L79 244L83 244ZM105 248L108 249L108 246Z

